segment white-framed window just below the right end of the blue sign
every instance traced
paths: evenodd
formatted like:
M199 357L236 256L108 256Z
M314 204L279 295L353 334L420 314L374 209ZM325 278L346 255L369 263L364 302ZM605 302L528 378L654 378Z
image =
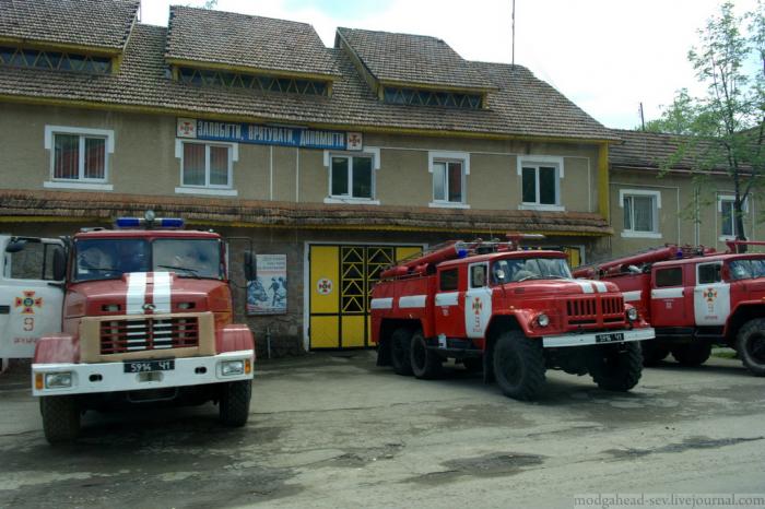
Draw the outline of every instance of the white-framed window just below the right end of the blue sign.
M379 169L379 149L364 152L325 151L325 166L329 169L329 191L325 203L361 203L378 205L376 171Z

